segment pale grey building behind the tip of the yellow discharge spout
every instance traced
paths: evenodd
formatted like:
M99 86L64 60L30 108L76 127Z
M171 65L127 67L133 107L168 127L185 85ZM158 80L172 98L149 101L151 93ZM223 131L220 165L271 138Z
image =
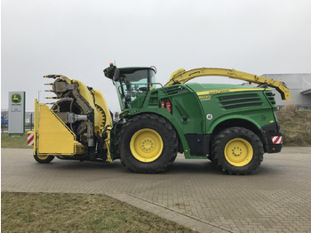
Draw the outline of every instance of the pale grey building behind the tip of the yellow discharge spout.
M265 74L262 76L274 80L280 78L290 89L291 100L282 100L281 95L273 89L278 107L294 104L299 109L311 109L311 74Z

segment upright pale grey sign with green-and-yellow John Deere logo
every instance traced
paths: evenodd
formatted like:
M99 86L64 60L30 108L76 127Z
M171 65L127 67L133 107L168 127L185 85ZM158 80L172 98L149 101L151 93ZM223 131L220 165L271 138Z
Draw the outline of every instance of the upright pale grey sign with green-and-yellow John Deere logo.
M25 133L25 92L9 92L9 134Z

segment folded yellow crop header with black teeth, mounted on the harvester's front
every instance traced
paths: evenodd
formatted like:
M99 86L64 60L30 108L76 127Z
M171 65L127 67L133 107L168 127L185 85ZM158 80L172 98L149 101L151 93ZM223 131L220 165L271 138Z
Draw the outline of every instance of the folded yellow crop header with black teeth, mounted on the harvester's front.
M112 118L103 94L80 81L66 76L45 76L56 79L52 91L57 97L52 107L36 101L35 149L39 155L75 156L95 153L96 143L109 148ZM39 117L40 116L40 117ZM95 139L96 138L96 139ZM109 155L109 153L108 153Z

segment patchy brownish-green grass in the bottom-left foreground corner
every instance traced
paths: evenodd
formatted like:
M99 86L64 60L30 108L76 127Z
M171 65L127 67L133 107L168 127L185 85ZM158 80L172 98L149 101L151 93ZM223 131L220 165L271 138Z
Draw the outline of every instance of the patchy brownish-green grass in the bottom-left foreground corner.
M195 232L105 195L1 193L3 232Z

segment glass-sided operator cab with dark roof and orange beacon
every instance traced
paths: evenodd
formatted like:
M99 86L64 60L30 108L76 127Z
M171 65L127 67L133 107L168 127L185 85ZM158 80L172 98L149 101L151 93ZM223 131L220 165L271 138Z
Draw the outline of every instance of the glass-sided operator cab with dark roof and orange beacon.
M147 93L156 84L156 68L116 68L110 64L104 70L105 76L116 85L117 95L122 110L131 108L132 100Z

